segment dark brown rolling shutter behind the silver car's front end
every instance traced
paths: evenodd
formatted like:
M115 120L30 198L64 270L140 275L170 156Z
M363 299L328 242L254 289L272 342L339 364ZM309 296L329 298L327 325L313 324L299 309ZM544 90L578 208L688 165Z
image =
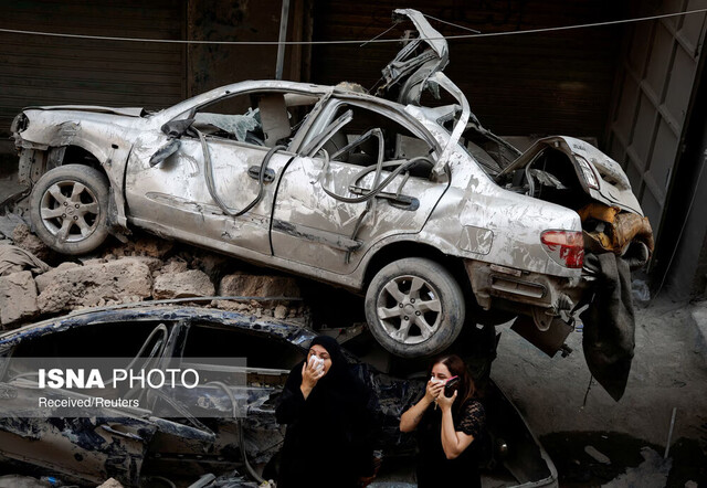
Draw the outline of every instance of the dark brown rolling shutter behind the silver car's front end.
M27 0L0 28L140 39L183 39L180 0ZM0 138L31 105L162 108L184 98L186 46L0 33Z

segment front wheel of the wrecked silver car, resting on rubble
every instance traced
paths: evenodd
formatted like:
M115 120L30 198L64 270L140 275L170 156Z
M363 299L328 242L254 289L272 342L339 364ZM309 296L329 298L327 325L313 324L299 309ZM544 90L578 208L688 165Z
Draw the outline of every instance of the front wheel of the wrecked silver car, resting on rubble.
M108 180L98 170L66 165L42 176L32 189L30 218L36 235L62 254L84 254L106 240Z

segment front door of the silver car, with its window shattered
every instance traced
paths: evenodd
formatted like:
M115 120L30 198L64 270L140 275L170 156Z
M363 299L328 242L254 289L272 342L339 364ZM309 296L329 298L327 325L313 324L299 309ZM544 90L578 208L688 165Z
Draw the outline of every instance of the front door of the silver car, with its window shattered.
M230 94L143 134L126 174L130 220L236 255L270 255L273 181L294 156L285 95Z

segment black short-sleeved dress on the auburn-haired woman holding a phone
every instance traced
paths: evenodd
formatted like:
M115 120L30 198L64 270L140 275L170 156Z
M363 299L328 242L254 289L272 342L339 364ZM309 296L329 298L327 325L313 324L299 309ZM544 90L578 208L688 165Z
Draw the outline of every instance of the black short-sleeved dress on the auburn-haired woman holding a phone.
M447 459L442 448L442 409L430 405L418 425L418 487L481 488L478 453L486 431L486 413L477 400L467 400L458 413L452 407L454 429L474 436L458 457Z

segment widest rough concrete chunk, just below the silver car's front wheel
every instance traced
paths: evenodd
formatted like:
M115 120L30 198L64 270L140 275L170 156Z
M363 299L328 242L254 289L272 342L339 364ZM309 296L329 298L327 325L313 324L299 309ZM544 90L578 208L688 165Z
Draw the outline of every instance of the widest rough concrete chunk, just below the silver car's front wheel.
M152 291L150 269L140 259L124 258L80 266L62 263L38 276L38 306L43 314L127 303L148 298ZM103 301L102 301L103 300Z

